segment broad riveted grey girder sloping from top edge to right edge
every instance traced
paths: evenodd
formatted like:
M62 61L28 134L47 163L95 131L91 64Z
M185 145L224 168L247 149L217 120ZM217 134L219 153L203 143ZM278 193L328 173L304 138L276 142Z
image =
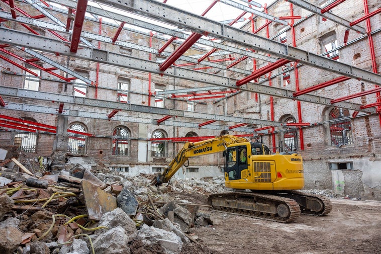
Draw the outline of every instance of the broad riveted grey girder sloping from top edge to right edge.
M238 28L226 26L219 22L153 0L109 0L96 2L119 8L124 11L135 12L160 21L165 21L169 24L180 28L186 28L197 33L208 33L215 38L258 51L264 51L281 58L299 61L306 65L381 85L381 75L379 74L356 68L349 64L337 62L289 45L284 45L280 42L263 38Z

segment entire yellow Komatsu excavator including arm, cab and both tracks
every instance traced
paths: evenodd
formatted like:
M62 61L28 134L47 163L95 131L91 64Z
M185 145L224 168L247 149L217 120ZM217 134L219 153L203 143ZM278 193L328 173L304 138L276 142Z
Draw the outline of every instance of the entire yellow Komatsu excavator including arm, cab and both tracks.
M260 142L222 135L200 142L186 142L152 184L168 183L189 157L223 152L225 186L233 192L208 197L213 210L277 221L294 221L300 214L322 216L332 209L322 195L306 194L300 154L271 154Z

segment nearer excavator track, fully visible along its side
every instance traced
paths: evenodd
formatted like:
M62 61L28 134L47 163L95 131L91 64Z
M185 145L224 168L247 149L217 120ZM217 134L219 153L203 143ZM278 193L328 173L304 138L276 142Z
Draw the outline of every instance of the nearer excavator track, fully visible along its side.
M299 204L289 198L250 192L218 193L208 197L212 210L287 223L300 214Z

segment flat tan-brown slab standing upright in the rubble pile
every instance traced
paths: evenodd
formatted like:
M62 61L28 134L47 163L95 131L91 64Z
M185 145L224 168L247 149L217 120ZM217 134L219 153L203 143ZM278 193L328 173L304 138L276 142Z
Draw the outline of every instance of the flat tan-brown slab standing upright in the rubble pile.
M82 181L82 190L90 220L100 220L103 214L117 208L117 199L113 195L104 192L90 182Z

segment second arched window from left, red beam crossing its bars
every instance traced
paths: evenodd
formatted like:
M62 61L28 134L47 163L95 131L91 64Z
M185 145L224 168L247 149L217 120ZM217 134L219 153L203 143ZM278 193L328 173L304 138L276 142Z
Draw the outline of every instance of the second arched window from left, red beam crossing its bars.
M81 134L86 132L84 126L75 123L72 124L67 131L69 135L69 152L74 154L84 154L86 148L86 136Z

